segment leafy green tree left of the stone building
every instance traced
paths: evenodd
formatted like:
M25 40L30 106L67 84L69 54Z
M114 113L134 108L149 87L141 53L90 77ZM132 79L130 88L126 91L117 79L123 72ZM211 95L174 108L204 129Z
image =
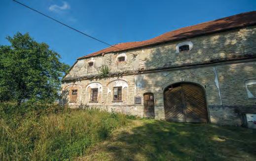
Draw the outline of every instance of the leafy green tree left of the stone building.
M0 102L53 102L59 97L61 79L70 68L46 43L28 33L6 37L0 45Z

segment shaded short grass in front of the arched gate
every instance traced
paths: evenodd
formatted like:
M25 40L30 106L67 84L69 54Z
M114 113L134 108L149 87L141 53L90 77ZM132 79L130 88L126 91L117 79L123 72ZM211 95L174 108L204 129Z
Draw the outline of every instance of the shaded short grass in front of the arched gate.
M111 160L244 160L256 158L256 131L212 124L142 120L104 146Z

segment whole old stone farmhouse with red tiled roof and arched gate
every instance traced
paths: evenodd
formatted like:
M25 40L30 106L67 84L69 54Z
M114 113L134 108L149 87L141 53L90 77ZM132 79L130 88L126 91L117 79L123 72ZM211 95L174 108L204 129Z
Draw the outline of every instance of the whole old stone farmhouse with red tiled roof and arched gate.
M72 107L241 125L256 114L256 11L79 57L62 88Z

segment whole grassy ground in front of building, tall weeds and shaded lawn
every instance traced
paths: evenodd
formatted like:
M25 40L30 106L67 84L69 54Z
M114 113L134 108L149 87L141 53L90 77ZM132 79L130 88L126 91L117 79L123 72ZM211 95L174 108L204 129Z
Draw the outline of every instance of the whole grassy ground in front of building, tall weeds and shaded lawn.
M254 161L253 132L243 127L129 120L98 110L0 105L0 161Z

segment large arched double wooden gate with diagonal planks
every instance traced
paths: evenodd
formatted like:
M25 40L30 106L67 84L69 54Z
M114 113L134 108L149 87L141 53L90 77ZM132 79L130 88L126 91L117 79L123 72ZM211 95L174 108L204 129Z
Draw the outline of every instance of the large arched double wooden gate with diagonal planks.
M167 121L207 122L204 89L194 83L175 83L164 90L164 111Z

